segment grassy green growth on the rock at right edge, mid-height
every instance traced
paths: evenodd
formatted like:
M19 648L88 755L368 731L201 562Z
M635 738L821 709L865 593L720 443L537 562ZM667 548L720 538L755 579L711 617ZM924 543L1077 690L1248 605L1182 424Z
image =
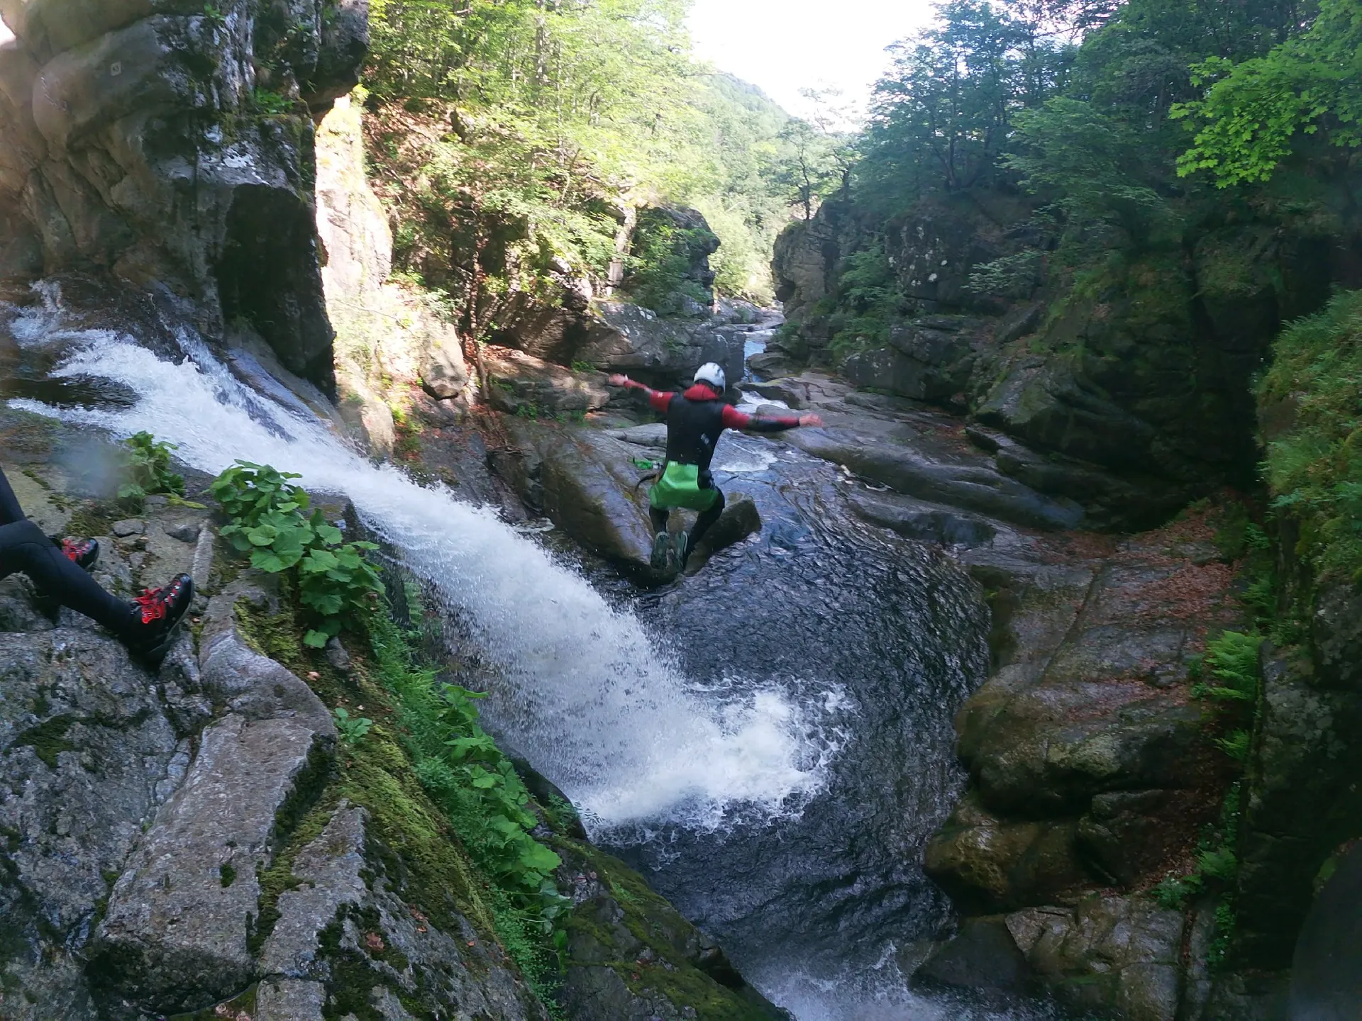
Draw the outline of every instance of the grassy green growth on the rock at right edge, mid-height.
M1284 329L1258 385L1264 474L1299 521L1298 551L1321 580L1362 580L1362 291Z

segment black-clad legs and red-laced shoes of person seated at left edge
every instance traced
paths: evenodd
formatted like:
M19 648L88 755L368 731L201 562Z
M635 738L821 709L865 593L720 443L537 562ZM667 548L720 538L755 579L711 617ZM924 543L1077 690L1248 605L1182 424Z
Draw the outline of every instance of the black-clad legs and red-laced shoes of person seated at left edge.
M169 645L193 599L193 580L178 574L131 603L104 591L89 570L99 560L94 539L52 539L25 517L0 471L0 579L22 572L38 591L108 628L131 652L155 658Z

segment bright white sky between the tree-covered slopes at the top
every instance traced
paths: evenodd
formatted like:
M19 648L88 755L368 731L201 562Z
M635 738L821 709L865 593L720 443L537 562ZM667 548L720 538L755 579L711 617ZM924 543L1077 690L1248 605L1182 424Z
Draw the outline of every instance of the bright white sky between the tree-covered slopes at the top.
M865 103L884 48L932 20L933 0L695 0L696 54L759 86L794 114L799 90L840 88Z

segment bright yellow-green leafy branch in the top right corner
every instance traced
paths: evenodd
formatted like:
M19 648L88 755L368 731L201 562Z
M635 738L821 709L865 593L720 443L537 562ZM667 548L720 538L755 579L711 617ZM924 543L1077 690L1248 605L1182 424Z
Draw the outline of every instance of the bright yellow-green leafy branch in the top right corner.
M1208 170L1219 188L1267 181L1302 136L1362 144L1362 8L1320 0L1309 31L1238 64L1211 56L1192 69L1200 98L1175 117L1196 125L1182 176Z

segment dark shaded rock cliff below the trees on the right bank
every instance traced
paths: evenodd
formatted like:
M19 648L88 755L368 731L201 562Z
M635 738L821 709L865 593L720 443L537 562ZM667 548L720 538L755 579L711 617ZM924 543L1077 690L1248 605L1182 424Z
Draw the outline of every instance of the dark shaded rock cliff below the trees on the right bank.
M779 343L1028 444L1046 464L1017 476L1081 501L1092 524L1150 527L1215 485L1252 485L1250 377L1282 323L1358 282L1346 188L1310 211L1211 218L1185 252L1113 252L1073 272L1007 193L925 199L889 223L829 201L776 246L794 324ZM898 295L876 321L849 291L870 255Z

